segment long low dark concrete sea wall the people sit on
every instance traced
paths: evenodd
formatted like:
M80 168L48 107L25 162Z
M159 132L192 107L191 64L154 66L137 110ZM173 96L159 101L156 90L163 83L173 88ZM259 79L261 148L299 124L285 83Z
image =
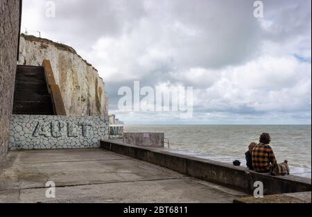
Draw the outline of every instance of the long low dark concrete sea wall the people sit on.
M254 191L253 184L257 181L263 182L265 195L311 191L311 179L309 178L293 175L275 177L209 159L168 153L159 148L125 145L112 141L101 141L101 148L245 193L252 194Z

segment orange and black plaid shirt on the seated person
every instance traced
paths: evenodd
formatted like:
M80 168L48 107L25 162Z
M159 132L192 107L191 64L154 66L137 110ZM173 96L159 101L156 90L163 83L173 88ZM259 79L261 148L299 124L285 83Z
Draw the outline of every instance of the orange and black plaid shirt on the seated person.
M270 163L276 164L275 155L268 144L258 144L252 150L252 166L259 173L270 172Z

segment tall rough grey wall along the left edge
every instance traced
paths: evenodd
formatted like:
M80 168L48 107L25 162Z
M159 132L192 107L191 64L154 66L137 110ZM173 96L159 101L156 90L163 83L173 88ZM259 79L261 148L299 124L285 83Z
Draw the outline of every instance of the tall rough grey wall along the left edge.
M19 41L19 0L0 1L0 161L8 150L12 114L17 46Z

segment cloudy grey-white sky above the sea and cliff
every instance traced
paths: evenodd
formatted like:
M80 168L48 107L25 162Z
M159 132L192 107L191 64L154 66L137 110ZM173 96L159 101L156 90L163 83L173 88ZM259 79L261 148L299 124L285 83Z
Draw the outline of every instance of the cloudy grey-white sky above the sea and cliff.
M311 124L310 0L262 1L263 17L252 0L53 2L49 17L49 1L24 0L21 31L93 64L126 124ZM135 80L193 87L193 116L122 112L119 88Z

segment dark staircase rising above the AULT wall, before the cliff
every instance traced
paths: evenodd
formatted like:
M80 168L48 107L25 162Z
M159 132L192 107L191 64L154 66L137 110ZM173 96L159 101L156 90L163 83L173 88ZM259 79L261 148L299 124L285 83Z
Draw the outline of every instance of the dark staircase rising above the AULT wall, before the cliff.
M54 114L44 67L17 66L13 114Z

